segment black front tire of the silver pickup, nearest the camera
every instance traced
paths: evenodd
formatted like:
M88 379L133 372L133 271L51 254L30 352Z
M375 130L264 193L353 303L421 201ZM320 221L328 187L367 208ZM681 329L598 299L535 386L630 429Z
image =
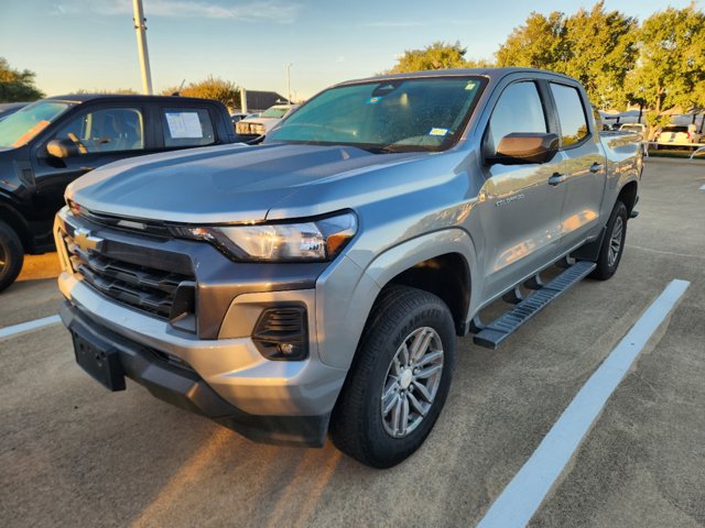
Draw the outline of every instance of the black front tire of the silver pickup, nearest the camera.
M408 420L412 418L417 424L412 424L413 427L410 426L405 436L394 438L381 414L382 392L386 389L384 384L391 380L388 376L394 375L393 359L401 352L402 343L413 339L412 336L421 337L420 343L424 342L424 337L429 338L429 344L423 349L424 355L417 360L426 360L434 354L437 356L438 345L441 346L442 359L436 358L432 366L437 366L435 362L441 361L442 367L435 374L434 388L426 393L435 391L435 396L429 403L417 387L417 381L430 383L429 378L421 380L421 372L419 380L415 377L417 371L427 370L424 366L426 363L419 361L414 364L413 359L410 359L406 370L410 375L413 370L414 380L410 382L406 376L405 382L402 382L404 376L399 376L397 394L390 394L398 402L402 398L400 394L404 394L408 416L403 427L406 428ZM425 350L431 355L425 354ZM419 449L433 429L445 404L454 366L455 328L445 302L433 294L405 286L384 289L372 308L355 361L333 411L333 442L344 453L372 468L391 468L400 463ZM422 415L411 405L412 397L416 403L422 402L421 405L429 406L420 420ZM400 407L394 405L398 413L402 404L399 405ZM398 416L403 417L403 411ZM394 420L393 415L390 416ZM393 432L397 432L397 424L401 425L402 419L394 421Z

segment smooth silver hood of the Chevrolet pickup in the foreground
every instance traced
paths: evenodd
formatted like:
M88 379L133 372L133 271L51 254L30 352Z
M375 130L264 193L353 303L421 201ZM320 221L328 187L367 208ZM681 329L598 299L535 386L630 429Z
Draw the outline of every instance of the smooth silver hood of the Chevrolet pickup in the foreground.
M194 148L106 165L70 184L66 198L122 218L197 224L261 221L302 188L427 155L291 144Z

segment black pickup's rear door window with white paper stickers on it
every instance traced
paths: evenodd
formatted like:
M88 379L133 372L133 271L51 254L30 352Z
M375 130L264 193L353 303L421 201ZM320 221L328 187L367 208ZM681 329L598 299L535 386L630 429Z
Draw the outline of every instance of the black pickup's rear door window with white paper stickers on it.
M216 142L210 113L205 108L162 109L162 130L166 147L205 146Z

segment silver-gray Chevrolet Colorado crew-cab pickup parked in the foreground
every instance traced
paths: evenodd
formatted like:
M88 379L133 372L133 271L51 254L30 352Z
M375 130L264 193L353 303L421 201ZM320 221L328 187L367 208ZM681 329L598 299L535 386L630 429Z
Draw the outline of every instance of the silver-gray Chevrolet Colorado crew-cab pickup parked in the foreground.
M433 428L456 337L495 348L582 278L612 276L641 170L637 136L598 134L570 77L343 82L261 144L73 183L54 228L61 316L111 391L127 376L247 438L329 433L388 468ZM506 312L484 321L490 304Z

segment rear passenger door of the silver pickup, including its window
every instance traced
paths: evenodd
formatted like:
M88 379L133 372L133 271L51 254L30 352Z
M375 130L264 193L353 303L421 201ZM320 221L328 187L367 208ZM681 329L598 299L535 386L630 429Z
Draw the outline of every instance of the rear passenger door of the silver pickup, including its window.
M605 156L584 98L574 86L549 82L561 136L556 169L565 187L561 211L561 249L582 245L599 234L599 210L605 191Z

